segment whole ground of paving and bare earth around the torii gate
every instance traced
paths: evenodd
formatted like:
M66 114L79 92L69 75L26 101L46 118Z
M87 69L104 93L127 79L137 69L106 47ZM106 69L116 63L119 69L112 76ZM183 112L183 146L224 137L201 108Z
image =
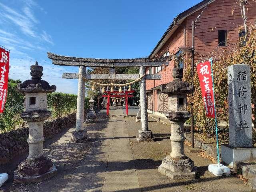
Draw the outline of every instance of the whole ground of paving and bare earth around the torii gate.
M137 109L129 110L130 115ZM250 191L239 178L215 177L208 172L210 160L186 154L198 166L196 180L170 180L157 172L170 153L170 126L150 119L154 142L134 142L140 123L124 117L124 110L112 108L110 116L99 114L98 122L86 123L91 142L69 143L74 128L44 149L57 166L58 174L39 184L15 184L13 192L140 192L140 191Z

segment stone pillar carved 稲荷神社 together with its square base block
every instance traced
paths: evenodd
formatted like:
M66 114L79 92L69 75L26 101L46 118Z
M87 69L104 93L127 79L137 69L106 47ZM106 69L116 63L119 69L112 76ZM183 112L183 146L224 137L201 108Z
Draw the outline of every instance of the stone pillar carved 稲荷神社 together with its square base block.
M228 66L228 133L229 144L221 145L222 160L234 169L239 162L255 161L249 65Z

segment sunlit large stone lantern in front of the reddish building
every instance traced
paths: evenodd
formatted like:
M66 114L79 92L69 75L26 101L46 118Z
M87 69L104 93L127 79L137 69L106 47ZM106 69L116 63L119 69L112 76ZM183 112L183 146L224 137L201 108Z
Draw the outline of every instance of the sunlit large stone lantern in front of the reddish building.
M165 114L171 122L172 152L162 160L158 172L172 179L193 179L197 168L194 162L184 154L184 122L190 118L187 111L187 94L194 92L194 86L182 81L183 69L173 69L173 81L161 90L168 94L168 112Z

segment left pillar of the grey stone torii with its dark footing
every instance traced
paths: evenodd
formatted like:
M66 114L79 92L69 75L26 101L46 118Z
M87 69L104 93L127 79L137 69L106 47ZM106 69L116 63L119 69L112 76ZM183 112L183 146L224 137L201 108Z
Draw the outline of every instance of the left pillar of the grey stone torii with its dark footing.
M72 132L72 142L84 143L89 140L87 130L84 129L84 97L86 66L79 66L78 91L76 104L76 130Z

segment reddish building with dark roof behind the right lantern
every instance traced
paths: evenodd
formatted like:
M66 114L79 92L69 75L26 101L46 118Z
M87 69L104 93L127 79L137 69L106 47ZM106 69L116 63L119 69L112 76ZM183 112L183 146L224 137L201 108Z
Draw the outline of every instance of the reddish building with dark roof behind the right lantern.
M256 2L246 4L247 25L256 20ZM171 52L178 56L179 47L191 47L192 21L196 21L195 51L200 55L208 55L216 48L224 48L228 44L238 42L244 31L239 32L239 26L244 21L240 5L235 6L236 0L204 0L188 10L180 13L170 24L159 42L156 44L150 58L168 56ZM203 11L204 10L204 11ZM203 12L202 12L203 11ZM200 61L199 58L195 59ZM186 68L183 63L180 66ZM160 86L172 81L174 61L170 61L166 70L162 67L147 68L148 74L161 74L161 80L146 80L148 112L162 115L168 110L168 96L160 92Z

